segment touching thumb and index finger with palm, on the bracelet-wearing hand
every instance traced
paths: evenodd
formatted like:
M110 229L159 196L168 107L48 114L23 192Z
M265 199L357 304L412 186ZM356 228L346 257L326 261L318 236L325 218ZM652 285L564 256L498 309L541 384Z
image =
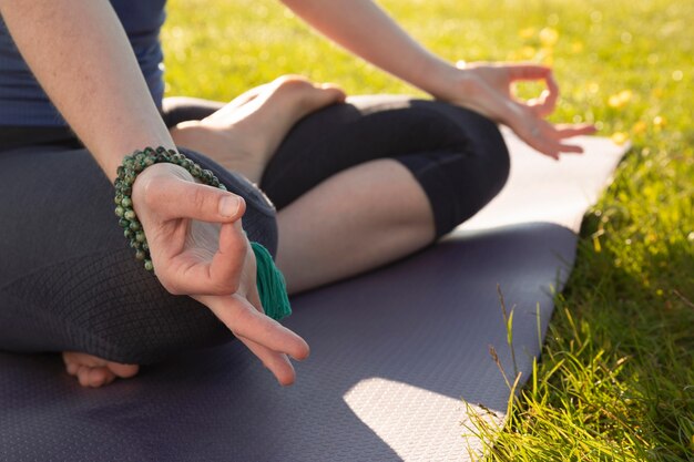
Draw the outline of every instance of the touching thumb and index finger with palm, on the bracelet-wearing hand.
M155 168L154 165L149 168ZM164 166L154 170L140 185L141 205L136 211L141 217L153 259L157 256L164 263L154 261L157 276L170 291L176 294L232 294L237 287L247 250L247 239L243 234L241 217L246 211L243 197L213 186L194 183L177 170ZM146 171L144 173L147 173ZM140 179L140 178L139 178ZM133 196L135 193L133 193ZM135 204L135 205L137 205ZM217 237L197 243L181 234L180 219L221 224ZM210 234L215 236L214 233ZM206 245L205 245L206 244ZM205 254L196 253L186 246L202 246ZM188 251L190 250L190 251ZM210 254L213 253L213 254ZM213 255L212 259L201 255ZM169 269L169 270L166 270Z

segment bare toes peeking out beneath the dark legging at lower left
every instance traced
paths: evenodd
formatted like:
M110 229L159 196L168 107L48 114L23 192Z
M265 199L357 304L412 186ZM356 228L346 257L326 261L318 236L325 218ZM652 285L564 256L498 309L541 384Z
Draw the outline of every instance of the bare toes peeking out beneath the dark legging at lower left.
M82 387L99 388L116 378L129 379L140 370L136 365L121 365L76 351L64 351L63 362L70 376L76 377Z

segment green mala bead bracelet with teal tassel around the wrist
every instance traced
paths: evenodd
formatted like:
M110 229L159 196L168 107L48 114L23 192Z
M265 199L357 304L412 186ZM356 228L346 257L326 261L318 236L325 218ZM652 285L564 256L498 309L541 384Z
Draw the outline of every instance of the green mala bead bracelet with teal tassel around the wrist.
M145 147L123 158L123 164L118 167L118 177L114 182L115 215L119 217L119 225L123 228L123 235L129 239L130 246L135 249L135 258L139 261L143 261L147 271L154 271L154 265L150 256L150 247L144 229L133 209L131 195L137 175L146 167L162 162L180 165L203 184L226 191L226 186L220 183L220 179L212 171L202 168L183 154L173 150L166 150L163 146L156 148ZM256 284L265 314L277 320L290 315L292 308L284 277L275 266L273 257L258 243L251 243L251 248L255 254L257 266Z

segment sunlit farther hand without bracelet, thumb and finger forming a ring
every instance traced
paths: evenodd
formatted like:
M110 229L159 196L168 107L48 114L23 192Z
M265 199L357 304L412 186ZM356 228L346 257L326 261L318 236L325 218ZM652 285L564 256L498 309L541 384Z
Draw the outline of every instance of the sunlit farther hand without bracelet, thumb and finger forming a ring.
M543 81L547 89L539 97L522 101L512 92L520 81ZM530 146L555 160L561 153L583 152L580 146L567 144L567 138L595 132L590 124L553 125L544 120L559 97L552 71L544 65L459 63L447 94L439 97L508 125Z

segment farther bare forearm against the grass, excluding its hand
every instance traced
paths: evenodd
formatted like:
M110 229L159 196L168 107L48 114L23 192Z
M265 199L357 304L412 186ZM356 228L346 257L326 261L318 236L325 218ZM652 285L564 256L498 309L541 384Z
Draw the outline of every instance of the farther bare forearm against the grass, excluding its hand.
M282 0L315 29L382 70L446 94L455 70L427 51L370 0Z

